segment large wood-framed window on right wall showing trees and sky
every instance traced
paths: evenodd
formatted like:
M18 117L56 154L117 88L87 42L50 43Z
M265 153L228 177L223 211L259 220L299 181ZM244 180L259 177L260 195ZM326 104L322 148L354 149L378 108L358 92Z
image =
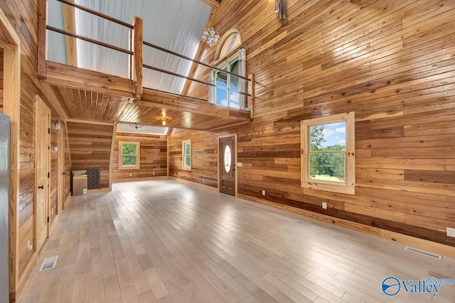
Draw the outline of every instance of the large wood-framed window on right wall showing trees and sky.
M354 113L301 121L301 187L355 193Z

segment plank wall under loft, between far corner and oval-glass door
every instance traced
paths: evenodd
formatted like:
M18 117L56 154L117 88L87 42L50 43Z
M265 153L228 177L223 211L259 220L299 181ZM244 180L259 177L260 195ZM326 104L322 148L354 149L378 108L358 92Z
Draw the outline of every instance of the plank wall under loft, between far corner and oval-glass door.
M182 170L182 141L191 139L191 172ZM169 176L218 187L218 136L174 129L169 140Z

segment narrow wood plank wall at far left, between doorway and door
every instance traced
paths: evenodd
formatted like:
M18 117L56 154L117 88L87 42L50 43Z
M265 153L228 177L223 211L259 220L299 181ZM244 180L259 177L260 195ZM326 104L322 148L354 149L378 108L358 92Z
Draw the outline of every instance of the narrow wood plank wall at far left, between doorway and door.
M61 111L55 107L55 96L43 89L37 77L37 24L38 24L38 3L37 0L0 1L0 9L9 18L11 25L21 40L21 106L20 106L20 182L18 184L18 231L16 241L18 251L11 255L10 266L17 268L18 285L12 285L11 299L14 300L20 293L26 276L31 270L31 261L36 252L26 251L27 241L33 243L34 238L34 174L35 174L35 95L38 94L52 111L53 119L65 120ZM53 100L52 102L50 100ZM53 135L54 136L54 135ZM56 139L53 138L53 141ZM65 182L69 182L69 176ZM51 180L50 187L56 187L55 181ZM11 277L14 282L15 277ZM10 282L11 284L11 282ZM15 284L15 282L14 282Z

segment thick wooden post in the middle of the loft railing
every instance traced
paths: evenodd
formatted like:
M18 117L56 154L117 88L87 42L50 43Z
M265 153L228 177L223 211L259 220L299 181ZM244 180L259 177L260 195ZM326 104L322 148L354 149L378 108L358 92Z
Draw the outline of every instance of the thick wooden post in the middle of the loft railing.
M144 46L144 26L143 21L139 17L134 17L134 33L133 33L133 93L138 99L142 95L142 64L144 54L142 48Z

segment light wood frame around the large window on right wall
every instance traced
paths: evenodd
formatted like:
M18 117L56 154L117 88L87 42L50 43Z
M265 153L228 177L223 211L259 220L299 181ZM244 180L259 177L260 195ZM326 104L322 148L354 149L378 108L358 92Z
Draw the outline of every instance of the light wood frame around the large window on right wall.
M310 179L309 170L309 126L318 126L329 123L346 121L346 157L345 182L331 182ZM324 116L300 122L301 133L301 187L319 189L328 192L355 194L355 113Z

